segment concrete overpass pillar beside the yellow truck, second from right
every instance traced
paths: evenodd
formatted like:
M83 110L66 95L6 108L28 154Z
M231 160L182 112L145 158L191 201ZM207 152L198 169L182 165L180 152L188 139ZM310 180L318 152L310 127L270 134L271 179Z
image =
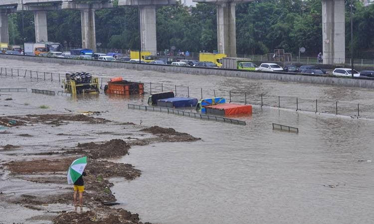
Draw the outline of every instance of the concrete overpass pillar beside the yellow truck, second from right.
M236 57L236 28L234 2L217 4L218 53Z

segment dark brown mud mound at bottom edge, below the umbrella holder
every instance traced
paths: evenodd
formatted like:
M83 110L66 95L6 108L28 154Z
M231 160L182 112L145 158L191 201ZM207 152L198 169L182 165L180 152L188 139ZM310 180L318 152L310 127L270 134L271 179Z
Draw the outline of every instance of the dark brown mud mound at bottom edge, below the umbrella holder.
M109 207L95 208L91 211L77 213L62 213L55 219L54 224L94 224L94 223L127 223L143 224L140 222L138 214L131 214L124 209L110 209ZM151 223L145 223L151 224Z

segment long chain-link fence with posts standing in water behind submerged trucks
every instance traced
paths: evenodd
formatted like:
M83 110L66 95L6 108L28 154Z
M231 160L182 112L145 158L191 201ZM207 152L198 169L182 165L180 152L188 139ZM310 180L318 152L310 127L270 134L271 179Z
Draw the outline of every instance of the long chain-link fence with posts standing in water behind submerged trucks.
M26 79L46 80L51 82L61 82L65 74L40 72L31 70L21 70L13 68L0 68L0 76L17 76ZM110 78L99 78L100 89L110 81ZM131 81L131 80L130 80ZM135 81L135 80L133 80ZM135 81L138 82L138 81ZM141 81L139 81L141 82ZM196 91L200 89L200 91ZM274 96L268 94L247 94L241 91L217 91L214 89L193 88L183 85L173 85L172 83L144 83L144 91L147 94L158 92L174 92L175 96L211 98L224 97L227 103L253 104L273 108L284 108L296 111L318 112L347 115L353 117L374 118L374 105L345 103L338 101L327 101L321 99L306 99L290 96Z

